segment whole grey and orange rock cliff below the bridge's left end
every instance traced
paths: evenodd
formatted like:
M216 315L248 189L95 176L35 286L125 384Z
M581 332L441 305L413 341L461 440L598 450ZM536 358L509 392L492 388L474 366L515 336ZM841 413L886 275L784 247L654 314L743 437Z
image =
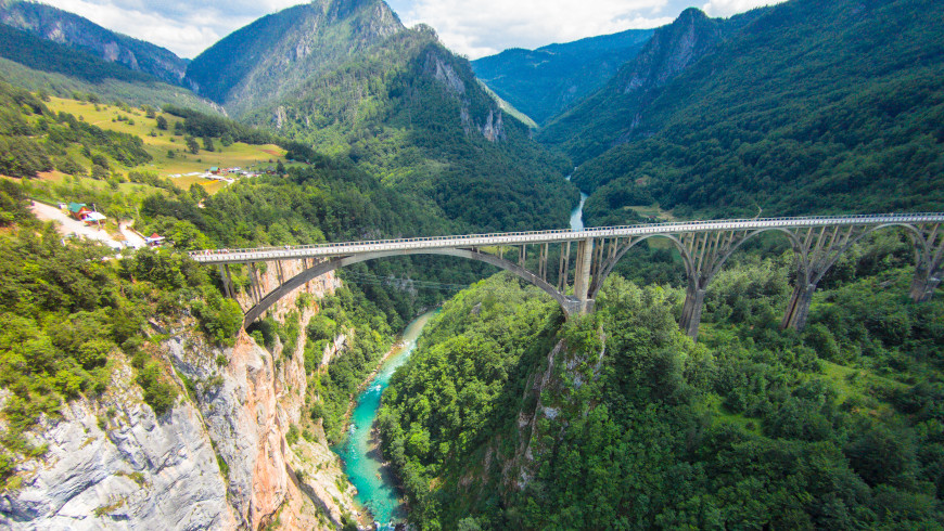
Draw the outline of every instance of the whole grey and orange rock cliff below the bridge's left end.
M271 268L260 284L278 275ZM282 319L301 293L321 297L339 285L333 275L316 279L271 312ZM315 314L315 305L303 309L299 336ZM0 496L0 528L336 529L343 515L358 516L323 433L285 439L307 389L304 338L293 352L270 352L240 332L221 349L192 331L181 323L155 354L181 389L162 417L117 359L103 397L73 401L36 430L34 442L49 450L20 465L22 488Z

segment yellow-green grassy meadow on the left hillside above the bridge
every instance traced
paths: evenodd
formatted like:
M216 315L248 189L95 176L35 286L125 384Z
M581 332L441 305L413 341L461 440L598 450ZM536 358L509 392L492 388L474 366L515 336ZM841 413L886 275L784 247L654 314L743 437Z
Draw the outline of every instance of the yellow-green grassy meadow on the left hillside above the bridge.
M193 155L187 151L183 137L174 134L174 125L182 119L168 114L163 115L167 119L167 130L162 131L157 129L156 119L148 118L140 108L127 107L127 109L122 109L115 105L93 104L61 98L52 98L47 105L52 111L71 113L76 118L81 118L102 129L140 137L144 141L144 148L151 154L153 160L148 165L129 169L155 171L162 177L182 176L171 177L171 179L183 189L190 187L194 182L202 184L211 193L222 189L226 185L225 182L186 176L186 173L206 171L212 166L258 168L272 166L279 159L284 163L285 151L277 145L250 145L237 142L224 147L219 139L213 139L215 151L201 150L200 153ZM174 153L173 158L168 155L169 152ZM80 157L77 153L75 155ZM50 177L54 177L54 172Z

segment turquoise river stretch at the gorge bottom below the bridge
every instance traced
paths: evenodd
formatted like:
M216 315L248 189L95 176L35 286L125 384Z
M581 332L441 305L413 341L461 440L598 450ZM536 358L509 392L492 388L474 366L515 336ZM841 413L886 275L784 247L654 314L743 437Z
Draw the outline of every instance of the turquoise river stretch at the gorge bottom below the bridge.
M372 429L377 410L380 407L380 397L390 384L394 371L403 365L410 352L417 348L420 332L434 314L435 311L420 315L404 331L400 346L387 357L377 376L357 397L357 405L350 414L347 437L334 448L344 462L347 477L357 488L357 500L370 509L378 522L400 521L406 516L397 489L388 477L390 472L381 463L378 441ZM380 529L391 528L386 523L381 524Z

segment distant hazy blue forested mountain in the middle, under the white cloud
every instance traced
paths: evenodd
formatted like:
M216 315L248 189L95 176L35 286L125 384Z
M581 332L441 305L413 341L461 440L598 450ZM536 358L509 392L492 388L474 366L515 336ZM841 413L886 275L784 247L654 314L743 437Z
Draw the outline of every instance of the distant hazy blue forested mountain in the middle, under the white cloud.
M652 31L629 29L537 50L513 48L473 61L472 69L499 96L544 124L603 86Z

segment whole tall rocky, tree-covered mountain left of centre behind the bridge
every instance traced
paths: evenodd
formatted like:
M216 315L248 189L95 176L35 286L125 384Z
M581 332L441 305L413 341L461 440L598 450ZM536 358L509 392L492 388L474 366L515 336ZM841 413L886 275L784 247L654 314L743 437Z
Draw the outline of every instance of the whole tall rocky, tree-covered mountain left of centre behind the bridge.
M239 29L188 79L245 122L431 197L462 230L565 226L570 166L531 139L428 26L380 0L323 0Z

